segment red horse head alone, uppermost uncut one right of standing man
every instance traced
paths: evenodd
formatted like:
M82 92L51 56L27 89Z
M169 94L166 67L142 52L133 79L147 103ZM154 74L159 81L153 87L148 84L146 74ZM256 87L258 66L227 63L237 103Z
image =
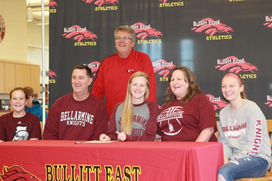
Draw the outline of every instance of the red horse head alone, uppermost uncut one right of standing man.
M205 18L201 21L214 21L213 19L211 18ZM199 22L199 21L198 21ZM232 28L225 25L225 24L222 24L219 22L219 24L215 24L215 25L209 25L208 23L206 25L203 25L203 26L197 26L197 27L194 27L194 28L191 28L191 30L195 30L195 32L198 32L198 33L201 33L203 30L206 30L205 33L206 34L209 34L210 36L213 36L215 33L222 33L222 32L226 32L229 34L228 31L232 31Z

